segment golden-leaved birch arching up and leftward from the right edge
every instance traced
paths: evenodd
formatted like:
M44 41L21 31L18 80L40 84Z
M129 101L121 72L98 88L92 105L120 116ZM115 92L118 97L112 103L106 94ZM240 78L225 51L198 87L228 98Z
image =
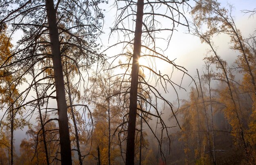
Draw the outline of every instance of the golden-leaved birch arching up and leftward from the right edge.
M194 16L194 21L197 26L202 23L207 23L208 35L218 33L228 34L233 43L231 49L241 53L240 61L243 63L243 72L249 73L251 83L253 86L254 95L256 95L255 76L253 73L252 65L248 59L248 48L239 29L237 29L234 18L231 16L232 6L230 5L230 13L225 8L220 7L217 0L199 0L197 5L191 11Z

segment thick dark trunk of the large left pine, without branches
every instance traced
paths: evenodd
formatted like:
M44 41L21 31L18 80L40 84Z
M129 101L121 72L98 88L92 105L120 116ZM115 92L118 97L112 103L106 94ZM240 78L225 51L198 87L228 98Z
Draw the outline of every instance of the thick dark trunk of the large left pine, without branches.
M65 98L65 85L63 79L63 68L61 64L60 42L56 22L56 11L53 0L45 0L47 20L49 26L49 37L51 41L52 62L56 88L56 101L58 106L58 125L61 146L61 164L72 165L71 146L67 117L67 101Z

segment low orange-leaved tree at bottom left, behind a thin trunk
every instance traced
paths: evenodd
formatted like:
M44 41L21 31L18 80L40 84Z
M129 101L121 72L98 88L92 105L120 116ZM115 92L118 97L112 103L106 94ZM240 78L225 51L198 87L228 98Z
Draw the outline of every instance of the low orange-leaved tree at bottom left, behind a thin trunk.
M46 120L49 119L47 115ZM23 139L20 143L20 157L17 162L24 165L38 165L46 164L47 157L45 152L45 141L47 143L47 154L49 164L58 164L56 159L59 159L57 152L59 152L58 147L58 136L57 127L54 121L48 122L44 125L45 136L40 136L42 134L42 126L40 121L38 125L29 127L27 130L27 138ZM45 138L45 139L44 139Z

